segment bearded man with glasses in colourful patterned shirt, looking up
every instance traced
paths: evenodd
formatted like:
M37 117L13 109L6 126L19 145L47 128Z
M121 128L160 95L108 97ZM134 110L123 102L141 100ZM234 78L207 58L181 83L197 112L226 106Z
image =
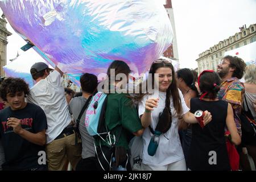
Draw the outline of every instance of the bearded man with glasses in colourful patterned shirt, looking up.
M245 92L243 83L240 79L245 72L245 62L237 56L225 56L220 64L217 65L217 73L222 79L218 98L225 100L232 105L234 121L236 122L238 133L242 134L239 115L242 109L242 94Z

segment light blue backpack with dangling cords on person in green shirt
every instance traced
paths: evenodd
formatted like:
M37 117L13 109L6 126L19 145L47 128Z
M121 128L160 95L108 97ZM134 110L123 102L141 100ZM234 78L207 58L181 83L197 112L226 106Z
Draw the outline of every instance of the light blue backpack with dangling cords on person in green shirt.
M115 144L121 136L122 127L119 127L118 136L108 131L105 123L106 105L108 101L108 95L102 92L96 93L88 109L86 110L85 126L86 129L95 140L98 142L98 146L94 143L96 156L98 159L98 169L104 171L110 171L113 169L113 159L117 155Z

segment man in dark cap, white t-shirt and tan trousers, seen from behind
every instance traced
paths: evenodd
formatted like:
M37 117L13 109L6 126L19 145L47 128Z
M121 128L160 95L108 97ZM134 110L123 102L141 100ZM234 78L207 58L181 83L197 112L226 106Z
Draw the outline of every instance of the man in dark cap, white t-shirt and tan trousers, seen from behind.
M75 128L64 95L63 72L53 72L45 63L35 63L30 73L36 84L30 89L28 102L42 107L47 117L46 152L49 170L64 170L67 160L73 169L81 158L81 145L75 145Z

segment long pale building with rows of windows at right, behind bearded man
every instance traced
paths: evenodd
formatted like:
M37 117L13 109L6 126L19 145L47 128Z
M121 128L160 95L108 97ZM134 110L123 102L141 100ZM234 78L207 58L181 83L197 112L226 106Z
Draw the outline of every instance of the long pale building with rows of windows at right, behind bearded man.
M224 57L225 52L246 46L255 41L256 24L251 24L248 28L246 28L246 25L240 27L240 32L230 36L228 39L220 41L218 44L199 54L199 58L196 59L199 73L205 69L217 71L217 65L222 57Z

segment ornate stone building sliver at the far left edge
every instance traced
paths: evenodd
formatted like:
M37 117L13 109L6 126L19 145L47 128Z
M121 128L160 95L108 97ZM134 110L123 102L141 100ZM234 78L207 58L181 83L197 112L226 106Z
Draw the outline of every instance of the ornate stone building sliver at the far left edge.
M2 15L2 18L0 18L0 76L5 76L5 73L3 72L3 67L6 65L6 46L8 44L7 42L7 36L11 35L11 32L9 32L6 29L6 20L5 15Z

